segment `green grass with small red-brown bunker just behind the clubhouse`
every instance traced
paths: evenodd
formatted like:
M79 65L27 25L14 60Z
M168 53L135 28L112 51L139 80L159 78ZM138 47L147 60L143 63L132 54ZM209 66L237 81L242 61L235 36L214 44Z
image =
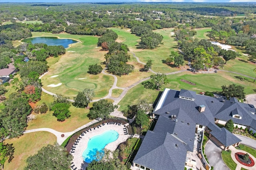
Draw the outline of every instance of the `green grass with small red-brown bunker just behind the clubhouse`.
M232 74L228 72L219 71L217 74L201 74L201 73L192 73L192 72L182 72L179 74L168 75L169 83L164 85L161 91L164 88L171 88L175 90L186 89L193 90L196 93L199 92L220 92L222 91L222 85L229 85L232 83L241 85L244 87L244 92L247 94L255 93L256 86L253 83L252 79L238 76L237 74ZM188 80L196 85L190 85L186 82L180 81L181 79ZM214 86L212 85L214 83ZM137 104L138 98L147 99L149 102L154 102L158 95L159 91L150 90L144 88L142 84L135 86L130 89L126 96L119 102L120 108L118 110L122 111L128 108L128 106L132 106Z

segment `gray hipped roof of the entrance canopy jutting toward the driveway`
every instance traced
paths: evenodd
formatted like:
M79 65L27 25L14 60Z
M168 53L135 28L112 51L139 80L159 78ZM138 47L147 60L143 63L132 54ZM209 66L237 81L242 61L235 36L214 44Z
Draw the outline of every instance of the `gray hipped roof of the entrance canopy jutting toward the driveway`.
M238 137L233 135L224 127L220 128L220 131L211 131L210 134L212 134L216 139L218 139L218 141L220 141L226 147L241 142L241 140Z

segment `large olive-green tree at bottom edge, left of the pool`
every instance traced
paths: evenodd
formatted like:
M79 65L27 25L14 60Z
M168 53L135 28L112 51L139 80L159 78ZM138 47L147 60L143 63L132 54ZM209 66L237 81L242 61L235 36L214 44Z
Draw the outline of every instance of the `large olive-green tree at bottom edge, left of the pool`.
M72 155L58 144L47 145L28 157L25 170L69 170Z

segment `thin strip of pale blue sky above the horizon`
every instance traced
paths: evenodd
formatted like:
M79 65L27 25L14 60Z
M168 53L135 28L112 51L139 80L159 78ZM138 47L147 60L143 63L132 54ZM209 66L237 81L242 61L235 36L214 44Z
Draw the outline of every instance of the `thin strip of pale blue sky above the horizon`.
M255 2L256 0L0 0L3 2Z

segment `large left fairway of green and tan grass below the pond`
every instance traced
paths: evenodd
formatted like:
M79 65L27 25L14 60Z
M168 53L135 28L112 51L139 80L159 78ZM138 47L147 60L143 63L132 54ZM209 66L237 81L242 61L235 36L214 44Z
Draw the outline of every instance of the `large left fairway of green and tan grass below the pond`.
M36 32L33 33L33 36L56 35ZM92 75L87 73L89 65L100 64L104 61L106 51L100 51L100 48L96 48L98 37L69 34L58 34L58 37L77 39L82 43L72 44L70 48L66 49L66 54L58 59L52 57L47 59L50 68L49 72L42 78L43 87L55 94L61 92L70 98L76 96L77 92L84 90L84 88L94 89L95 99L106 96L114 78L104 74ZM58 77L51 78L54 75L58 75ZM62 83L62 85L48 87L50 84L58 83Z

